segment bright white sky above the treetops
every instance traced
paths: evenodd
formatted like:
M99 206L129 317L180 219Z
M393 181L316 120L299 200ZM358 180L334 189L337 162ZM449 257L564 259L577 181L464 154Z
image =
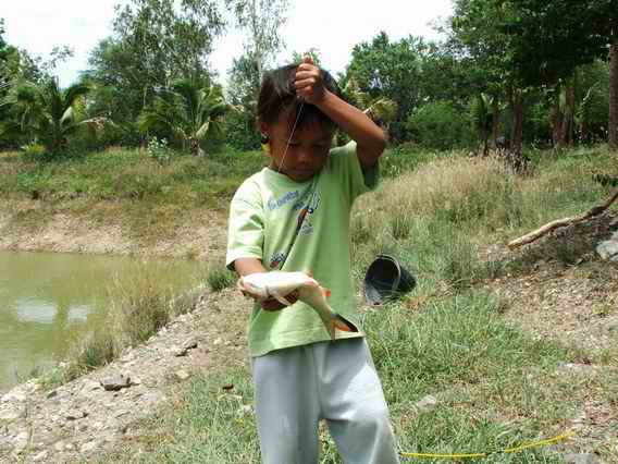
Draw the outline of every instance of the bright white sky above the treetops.
M74 57L57 73L62 86L73 83L87 68L90 50L111 35L114 5L128 0L0 0L4 40L47 58L53 47L70 46ZM381 30L392 40L408 35L440 38L432 23L452 14L452 0L289 0L282 28L286 49L277 57L287 62L293 51L319 50L322 66L336 74L349 63L351 49ZM232 60L243 52L243 33L228 28L214 44L211 66L223 81Z

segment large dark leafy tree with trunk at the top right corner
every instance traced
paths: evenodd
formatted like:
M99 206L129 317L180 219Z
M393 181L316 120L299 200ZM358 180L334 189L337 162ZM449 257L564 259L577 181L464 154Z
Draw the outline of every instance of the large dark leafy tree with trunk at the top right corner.
M521 149L530 88L563 85L578 65L606 54L614 0L456 0L453 30L467 53L505 84L511 147ZM577 14L565 14L577 11ZM556 89L559 91L559 89ZM572 90L569 90L572 103ZM573 105L569 105L572 111ZM572 114L569 115L572 119ZM564 120L560 122L564 125ZM567 125L569 125L567 121Z

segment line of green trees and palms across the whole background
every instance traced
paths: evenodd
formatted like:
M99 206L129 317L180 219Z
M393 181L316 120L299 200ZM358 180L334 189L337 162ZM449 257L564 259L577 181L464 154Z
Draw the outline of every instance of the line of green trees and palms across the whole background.
M2 39L0 23L0 149L42 144L59 158L71 146L146 146L151 136L194 155L211 154L224 139L233 149L259 148L259 83L284 45L289 4L228 0L225 7L247 35L225 93L207 60L231 24L211 0L183 0L177 9L173 0L131 0L116 9L113 34L91 50L77 93L53 78L70 51L34 60ZM457 0L453 17L437 26L443 41L394 41L381 32L354 47L339 82L351 102L380 113L394 144L487 154L502 137L516 156L531 144L608 141L614 149L618 13L611 0L588 2L566 17L573 10L582 10L574 0ZM319 62L318 50L307 52ZM98 131L76 130L81 120L97 122Z

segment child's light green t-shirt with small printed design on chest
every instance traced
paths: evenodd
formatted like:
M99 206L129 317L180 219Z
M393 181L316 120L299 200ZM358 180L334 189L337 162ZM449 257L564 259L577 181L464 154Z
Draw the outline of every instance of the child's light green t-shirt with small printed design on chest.
M232 199L226 265L257 258L267 270L311 271L332 291L333 309L358 326L350 272L349 216L356 197L374 188L375 168L362 173L356 143L333 148L324 168L307 182L264 168ZM283 264L283 265L282 265ZM336 333L337 338L363 333ZM301 302L279 312L256 304L249 320L249 354L330 340L318 314Z

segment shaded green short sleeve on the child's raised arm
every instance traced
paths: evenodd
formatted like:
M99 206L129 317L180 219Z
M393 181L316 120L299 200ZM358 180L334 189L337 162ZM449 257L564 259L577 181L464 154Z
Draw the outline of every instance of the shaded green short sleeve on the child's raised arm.
M333 148L331 163L335 175L342 180L350 200L374 190L380 183L380 162L376 161L373 168L363 173L354 141L342 147Z

